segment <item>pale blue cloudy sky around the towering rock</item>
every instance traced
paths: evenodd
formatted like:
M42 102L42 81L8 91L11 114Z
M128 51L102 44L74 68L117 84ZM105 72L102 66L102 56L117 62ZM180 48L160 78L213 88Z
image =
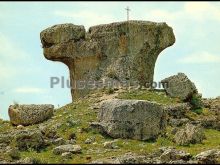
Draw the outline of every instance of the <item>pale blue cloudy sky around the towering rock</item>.
M69 78L67 66L43 56L40 32L54 24L92 25L130 19L166 22L176 43L156 63L155 81L184 72L204 97L220 95L219 2L0 2L0 118L8 106L71 102L68 88L50 88L50 77Z

